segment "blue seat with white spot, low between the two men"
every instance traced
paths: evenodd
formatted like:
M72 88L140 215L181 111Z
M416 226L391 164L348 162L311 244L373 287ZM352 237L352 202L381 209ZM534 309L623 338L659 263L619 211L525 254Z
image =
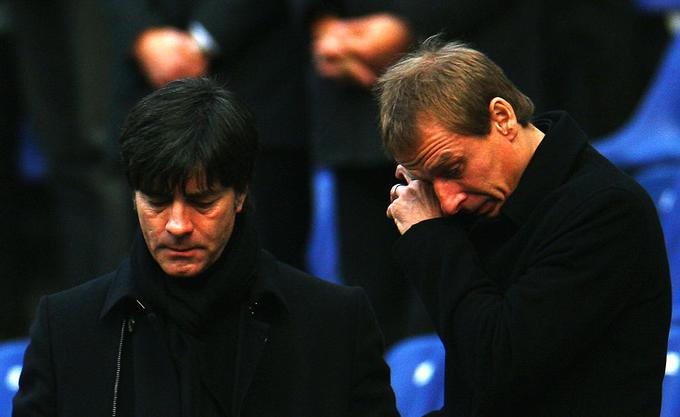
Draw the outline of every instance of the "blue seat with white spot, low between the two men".
M443 407L444 356L436 335L404 339L385 355L402 417L421 417Z

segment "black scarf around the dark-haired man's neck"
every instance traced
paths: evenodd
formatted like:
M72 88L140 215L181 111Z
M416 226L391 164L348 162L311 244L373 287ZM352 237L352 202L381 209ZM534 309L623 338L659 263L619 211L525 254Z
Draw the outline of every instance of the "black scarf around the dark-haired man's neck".
M237 216L222 255L190 278L166 275L141 232L131 266L149 307L159 313L180 378L182 416L228 416L232 399L238 323L248 298L259 245L246 213Z

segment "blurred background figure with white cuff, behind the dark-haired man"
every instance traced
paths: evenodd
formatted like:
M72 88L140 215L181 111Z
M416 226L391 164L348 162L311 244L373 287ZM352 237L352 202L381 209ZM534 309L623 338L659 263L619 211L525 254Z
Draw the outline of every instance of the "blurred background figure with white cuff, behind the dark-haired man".
M309 218L303 46L287 1L102 0L112 26L111 136L140 97L211 75L253 109L262 138L251 197L265 248L302 267Z

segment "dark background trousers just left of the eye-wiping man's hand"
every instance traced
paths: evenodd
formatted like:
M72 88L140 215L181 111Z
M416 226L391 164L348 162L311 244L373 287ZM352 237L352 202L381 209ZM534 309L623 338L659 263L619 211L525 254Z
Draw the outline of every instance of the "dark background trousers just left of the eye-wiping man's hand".
M399 232L386 216L394 168L335 170L340 275L363 287L375 309L387 346L433 331L425 308L392 260Z

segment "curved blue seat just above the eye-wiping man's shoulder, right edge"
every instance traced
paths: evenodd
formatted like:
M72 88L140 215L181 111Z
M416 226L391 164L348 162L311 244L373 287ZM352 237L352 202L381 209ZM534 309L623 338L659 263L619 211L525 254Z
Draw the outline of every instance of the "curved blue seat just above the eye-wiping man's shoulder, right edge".
M675 1L678 3L678 1ZM595 145L623 169L680 161L680 36L631 121Z

